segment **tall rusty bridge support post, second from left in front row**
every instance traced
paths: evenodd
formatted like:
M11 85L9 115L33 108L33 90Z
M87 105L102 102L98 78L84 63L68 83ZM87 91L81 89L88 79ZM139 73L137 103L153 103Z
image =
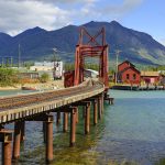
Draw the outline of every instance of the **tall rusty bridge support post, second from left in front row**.
M53 116L47 117L46 125L46 163L53 161Z

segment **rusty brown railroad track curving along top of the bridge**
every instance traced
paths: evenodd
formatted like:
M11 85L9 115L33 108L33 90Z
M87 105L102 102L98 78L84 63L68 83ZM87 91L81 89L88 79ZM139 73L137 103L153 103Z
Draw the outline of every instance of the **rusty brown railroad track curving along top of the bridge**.
M63 99L66 97L75 96L78 94L92 91L97 88L102 86L99 81L88 80L77 87L55 90L55 91L47 91L47 92L37 92L31 95L23 95L23 96L14 96L14 97L7 97L0 99L0 111L6 109L14 109L20 108L29 105L36 105L44 101L53 101L57 99Z

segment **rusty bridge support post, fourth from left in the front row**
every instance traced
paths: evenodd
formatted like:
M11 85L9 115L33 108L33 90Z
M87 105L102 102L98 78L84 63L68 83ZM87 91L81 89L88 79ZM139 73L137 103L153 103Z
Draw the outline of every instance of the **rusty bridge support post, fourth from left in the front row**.
M85 134L89 133L90 129L90 102L87 103L85 109Z

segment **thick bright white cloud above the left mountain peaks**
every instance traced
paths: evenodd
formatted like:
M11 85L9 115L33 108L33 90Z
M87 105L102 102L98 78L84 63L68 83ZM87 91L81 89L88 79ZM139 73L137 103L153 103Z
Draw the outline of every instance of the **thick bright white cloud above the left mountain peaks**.
M16 34L23 30L41 26L55 30L70 23L69 12L38 1L0 1L0 31Z

